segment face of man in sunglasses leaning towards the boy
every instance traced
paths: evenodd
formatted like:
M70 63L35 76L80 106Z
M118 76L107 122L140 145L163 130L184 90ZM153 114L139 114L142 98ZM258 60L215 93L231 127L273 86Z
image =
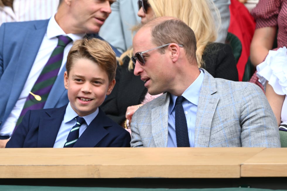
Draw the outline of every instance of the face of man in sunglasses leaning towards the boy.
M158 47L151 42L150 28L141 28L133 39L133 55L136 52L146 51ZM170 80L173 76L169 68L167 54L160 54L159 49L143 54L145 65L141 66L138 61L134 68L134 75L140 75L145 82L144 86L151 95L157 95L170 90Z

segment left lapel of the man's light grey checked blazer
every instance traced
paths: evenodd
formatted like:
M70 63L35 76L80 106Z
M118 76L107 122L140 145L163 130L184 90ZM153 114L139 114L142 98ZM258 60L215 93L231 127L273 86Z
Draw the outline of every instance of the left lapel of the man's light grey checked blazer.
M170 94L166 93L159 106L151 110L151 131L156 147L168 146L168 106Z

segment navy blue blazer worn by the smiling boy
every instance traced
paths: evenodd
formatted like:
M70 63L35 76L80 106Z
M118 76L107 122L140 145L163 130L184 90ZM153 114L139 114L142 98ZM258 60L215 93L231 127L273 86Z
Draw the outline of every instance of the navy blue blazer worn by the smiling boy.
M66 106L28 111L7 142L6 148L53 147ZM99 108L98 115L74 147L130 147L130 141L129 132L108 118Z

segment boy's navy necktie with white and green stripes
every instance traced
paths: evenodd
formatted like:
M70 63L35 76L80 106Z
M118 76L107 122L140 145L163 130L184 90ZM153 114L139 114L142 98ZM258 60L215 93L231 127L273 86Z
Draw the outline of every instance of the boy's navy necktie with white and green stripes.
M74 125L67 137L66 143L64 145L65 147L73 147L75 142L78 140L79 138L79 129L81 127L81 125L83 123L85 123L85 119L82 117L77 116L76 118L74 118L77 120L76 125Z

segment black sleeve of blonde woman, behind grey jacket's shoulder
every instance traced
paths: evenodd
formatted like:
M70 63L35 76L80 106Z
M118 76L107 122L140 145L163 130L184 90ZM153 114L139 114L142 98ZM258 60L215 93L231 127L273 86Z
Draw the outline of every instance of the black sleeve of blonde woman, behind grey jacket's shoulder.
M203 57L205 66L214 78L238 81L238 70L232 49L228 44L211 43L206 46Z

